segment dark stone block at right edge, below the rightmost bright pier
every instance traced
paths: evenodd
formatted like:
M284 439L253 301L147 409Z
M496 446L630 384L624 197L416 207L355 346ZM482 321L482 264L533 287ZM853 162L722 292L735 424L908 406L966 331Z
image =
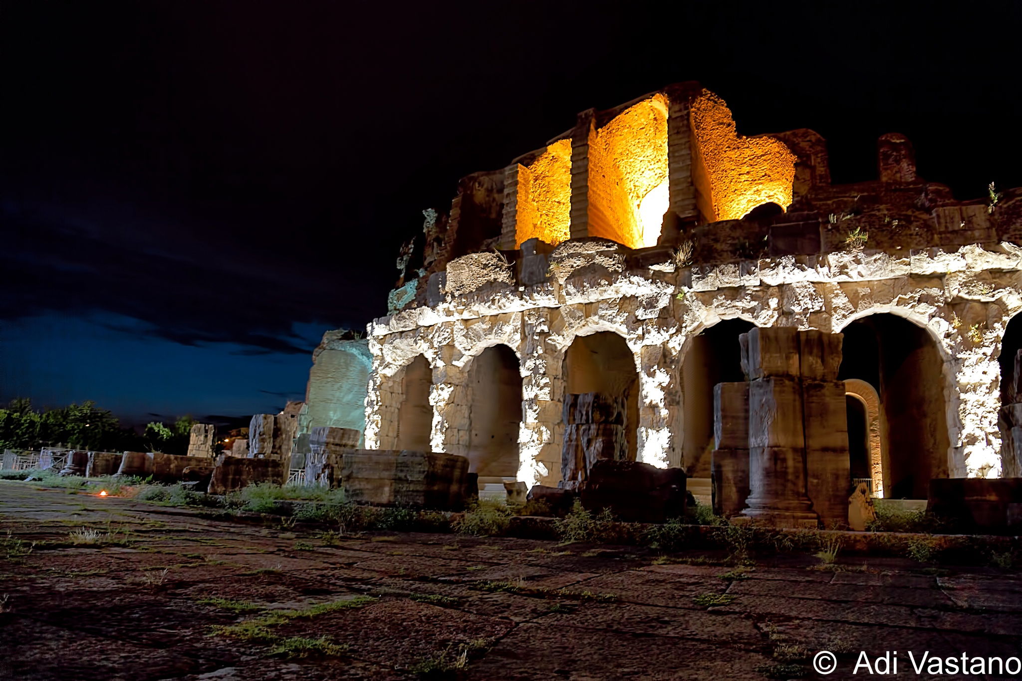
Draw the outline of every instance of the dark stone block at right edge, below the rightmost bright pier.
M926 510L960 532L1009 531L1009 505L1022 503L1022 478L938 478Z

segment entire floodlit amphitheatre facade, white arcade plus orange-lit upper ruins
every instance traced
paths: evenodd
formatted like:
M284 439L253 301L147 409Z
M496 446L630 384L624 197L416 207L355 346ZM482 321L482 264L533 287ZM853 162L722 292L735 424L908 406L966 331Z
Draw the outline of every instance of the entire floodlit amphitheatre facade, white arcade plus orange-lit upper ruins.
M738 335L792 327L844 334L852 478L920 498L930 478L1017 475L1022 189L956 200L898 135L878 178L832 185L812 131L737 136L697 84L580 113L425 211L368 327L365 446L552 485L565 394L609 392L630 457L709 477Z

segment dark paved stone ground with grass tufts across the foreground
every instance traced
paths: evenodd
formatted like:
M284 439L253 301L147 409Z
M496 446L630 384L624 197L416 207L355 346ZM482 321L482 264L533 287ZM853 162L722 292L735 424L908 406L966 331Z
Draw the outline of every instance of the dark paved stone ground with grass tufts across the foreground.
M73 543L82 528L101 543ZM706 565L723 557L338 537L0 482L0 679L822 678L823 648L838 660L827 678L868 677L851 675L861 650L897 650L899 678L958 678L917 676L908 652L1022 655L1016 572L840 555L836 571L807 555ZM217 629L253 620L263 628ZM321 637L344 647L273 652Z

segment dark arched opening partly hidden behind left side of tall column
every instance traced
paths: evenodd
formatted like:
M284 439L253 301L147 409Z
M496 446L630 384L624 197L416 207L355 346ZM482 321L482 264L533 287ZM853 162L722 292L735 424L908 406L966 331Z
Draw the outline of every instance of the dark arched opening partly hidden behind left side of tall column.
M682 362L682 397L685 429L682 466L693 478L710 476L713 449L713 386L744 381L742 348L738 337L755 325L745 320L724 320L692 339Z

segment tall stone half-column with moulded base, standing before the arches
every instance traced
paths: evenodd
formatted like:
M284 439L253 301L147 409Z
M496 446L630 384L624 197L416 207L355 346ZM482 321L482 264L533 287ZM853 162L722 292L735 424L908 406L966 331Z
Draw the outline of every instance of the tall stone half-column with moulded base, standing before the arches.
M749 382L749 497L743 516L779 527L816 527L806 495L805 430L794 328L740 336Z

